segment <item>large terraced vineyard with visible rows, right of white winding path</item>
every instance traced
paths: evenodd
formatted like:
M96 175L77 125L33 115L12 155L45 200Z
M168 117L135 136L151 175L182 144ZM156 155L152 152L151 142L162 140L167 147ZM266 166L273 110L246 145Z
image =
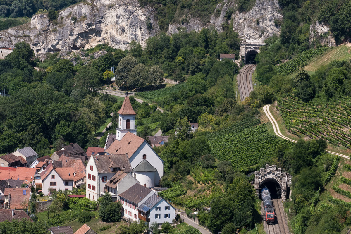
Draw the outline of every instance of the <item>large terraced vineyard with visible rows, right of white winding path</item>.
M290 96L278 99L278 110L289 132L351 148L350 97L314 105L313 102L305 103Z

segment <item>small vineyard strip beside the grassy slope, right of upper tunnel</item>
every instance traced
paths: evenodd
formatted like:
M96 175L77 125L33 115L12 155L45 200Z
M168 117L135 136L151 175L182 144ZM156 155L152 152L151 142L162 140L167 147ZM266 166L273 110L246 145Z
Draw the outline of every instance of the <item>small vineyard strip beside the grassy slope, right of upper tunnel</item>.
M281 75L289 75L294 73L300 67L306 66L312 58L323 54L327 49L328 47L320 47L318 49L309 49L308 51L304 51L296 56L296 58L290 59L289 61L278 66L277 72Z

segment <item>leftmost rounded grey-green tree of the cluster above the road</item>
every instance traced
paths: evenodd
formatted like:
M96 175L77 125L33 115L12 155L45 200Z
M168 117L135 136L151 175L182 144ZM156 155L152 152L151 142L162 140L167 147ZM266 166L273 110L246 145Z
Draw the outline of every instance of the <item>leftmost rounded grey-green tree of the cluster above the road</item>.
M118 66L115 70L116 85L118 86L124 85L128 81L129 75L132 69L137 64L138 64L138 61L133 56L130 56L130 55L121 59L121 61L118 63Z

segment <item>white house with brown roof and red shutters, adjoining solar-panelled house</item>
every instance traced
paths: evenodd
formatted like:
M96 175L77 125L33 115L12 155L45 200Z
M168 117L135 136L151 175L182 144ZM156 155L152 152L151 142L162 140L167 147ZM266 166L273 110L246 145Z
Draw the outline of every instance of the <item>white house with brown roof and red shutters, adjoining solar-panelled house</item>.
M139 221L138 207L143 204L154 192L139 183L134 184L123 193L118 194L122 203L122 217L125 220Z

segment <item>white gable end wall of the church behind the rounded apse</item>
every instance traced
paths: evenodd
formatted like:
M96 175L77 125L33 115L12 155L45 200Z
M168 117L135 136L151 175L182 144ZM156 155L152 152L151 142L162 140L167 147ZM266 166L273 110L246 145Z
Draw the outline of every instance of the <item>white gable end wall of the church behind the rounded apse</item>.
M144 141L137 149L137 151L135 151L135 153L130 157L129 161L131 162L131 166L132 168L138 166L138 164L143 161L144 154L146 154L146 161L148 161L154 168L157 169L154 180L154 185L157 186L159 185L159 181L163 176L163 161L146 141ZM138 181L140 182L140 180Z

